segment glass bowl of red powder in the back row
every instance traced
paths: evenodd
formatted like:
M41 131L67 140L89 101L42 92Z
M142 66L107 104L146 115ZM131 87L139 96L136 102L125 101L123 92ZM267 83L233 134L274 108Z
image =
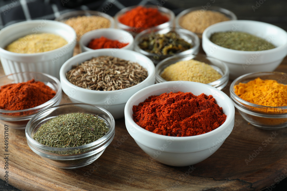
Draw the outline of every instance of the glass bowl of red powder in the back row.
M121 9L115 15L116 27L128 31L133 36L151 28L173 26L174 13L165 7L157 5L131 6Z

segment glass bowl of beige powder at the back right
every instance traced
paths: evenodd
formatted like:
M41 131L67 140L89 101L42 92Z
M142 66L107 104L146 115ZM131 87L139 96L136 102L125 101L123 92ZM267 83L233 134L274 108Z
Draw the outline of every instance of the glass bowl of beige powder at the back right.
M201 7L192 7L189 9L185 9L184 11L181 11L176 17L175 17L175 26L179 28L185 28L187 30L190 30L197 34L197 36L201 39L202 38L202 33L204 29L206 29L208 26L222 21L224 17L222 17L222 14L227 17L230 20L237 20L236 15L229 11L228 9L224 9L222 7L216 7L216 6L211 6L211 3L208 3L205 6ZM199 11L199 12L194 12L196 13L195 15L192 15L191 18L186 19L185 22L187 26L183 26L184 22L182 19L187 15L190 14L193 11ZM213 11L214 15L205 15L203 14L204 11ZM212 12L211 12L212 13ZM221 14L218 14L221 13ZM200 21L200 18L202 17L202 21ZM211 18L210 18L211 17ZM199 19L199 20L197 20ZM207 20L211 19L211 20ZM195 21L196 20L196 21Z

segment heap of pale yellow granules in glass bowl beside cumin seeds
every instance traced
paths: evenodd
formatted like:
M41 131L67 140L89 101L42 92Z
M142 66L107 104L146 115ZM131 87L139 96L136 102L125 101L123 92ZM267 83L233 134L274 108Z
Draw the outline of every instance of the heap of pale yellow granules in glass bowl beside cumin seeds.
M222 76L212 66L197 60L179 61L164 68L161 77L167 81L193 81L208 84Z

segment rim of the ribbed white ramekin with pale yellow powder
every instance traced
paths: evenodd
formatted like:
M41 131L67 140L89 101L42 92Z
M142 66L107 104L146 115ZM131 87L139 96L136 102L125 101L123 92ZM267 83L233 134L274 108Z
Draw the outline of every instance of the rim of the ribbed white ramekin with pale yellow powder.
M25 25L27 23L28 24L30 24L30 23L35 23L36 24L36 23L41 23L41 22L43 22L43 20L38 19L38 20L27 20L27 21L21 21L21 22L18 22L18 23L13 23L13 24L8 25L7 27L4 27L3 29L1 29L0 30L0 36L1 36L1 33L5 32L7 30L10 30L13 27L20 27L21 25ZM62 27L66 27L66 29L70 30L69 32L73 33L73 40L69 41L64 46L61 46L59 48L56 48L54 50L49 50L49 51L46 51L46 52L38 52L38 53L31 53L31 54L28 54L28 53L16 53L16 52L10 52L8 50L5 50L2 47L0 47L0 52L3 52L3 53L5 53L5 54L7 54L9 56L21 56L21 57L42 56L42 55L49 54L49 53L57 53L60 49L63 49L63 48L66 49L67 47L72 46L73 44L76 44L76 42L77 42L76 41L76 32L75 32L75 30L72 27L70 27L69 25L67 25L65 23L61 23L59 21L45 20L45 22L54 23L54 24L57 24L57 25L61 25ZM61 36L61 35L58 35L58 36ZM15 39L15 40L17 40L17 39Z

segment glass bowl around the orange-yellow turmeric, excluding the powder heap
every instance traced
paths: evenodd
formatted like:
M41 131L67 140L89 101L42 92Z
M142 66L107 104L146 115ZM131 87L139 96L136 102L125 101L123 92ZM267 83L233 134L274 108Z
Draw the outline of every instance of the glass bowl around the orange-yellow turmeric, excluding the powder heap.
M262 129L280 129L287 127L287 106L268 107L247 102L238 97L234 86L247 83L260 77L262 80L277 80L278 83L287 84L286 73L283 72L253 72L236 78L230 85L230 98L242 117L250 124Z

